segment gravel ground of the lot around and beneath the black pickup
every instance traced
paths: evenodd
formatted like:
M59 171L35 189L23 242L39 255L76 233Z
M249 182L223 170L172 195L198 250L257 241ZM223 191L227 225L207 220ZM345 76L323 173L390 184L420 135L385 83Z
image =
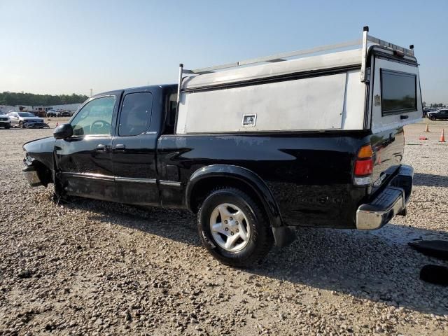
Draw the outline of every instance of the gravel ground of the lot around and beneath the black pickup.
M249 270L211 258L188 212L53 203L20 173L22 144L52 130L0 130L0 335L448 335L448 290L419 280L443 262L407 246L448 239L441 125L407 127L406 217L297 230Z

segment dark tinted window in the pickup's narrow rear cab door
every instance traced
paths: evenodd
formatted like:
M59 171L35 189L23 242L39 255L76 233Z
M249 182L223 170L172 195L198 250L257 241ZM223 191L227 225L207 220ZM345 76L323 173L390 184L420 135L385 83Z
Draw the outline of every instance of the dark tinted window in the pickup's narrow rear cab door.
M150 92L126 94L121 107L118 135L129 137L148 130L151 125L152 109L153 94Z

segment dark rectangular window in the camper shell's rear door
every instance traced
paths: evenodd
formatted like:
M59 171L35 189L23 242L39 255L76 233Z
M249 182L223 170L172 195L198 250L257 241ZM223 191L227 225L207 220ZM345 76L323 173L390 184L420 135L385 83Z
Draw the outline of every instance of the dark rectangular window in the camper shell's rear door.
M384 115L416 111L416 75L381 69L381 106Z

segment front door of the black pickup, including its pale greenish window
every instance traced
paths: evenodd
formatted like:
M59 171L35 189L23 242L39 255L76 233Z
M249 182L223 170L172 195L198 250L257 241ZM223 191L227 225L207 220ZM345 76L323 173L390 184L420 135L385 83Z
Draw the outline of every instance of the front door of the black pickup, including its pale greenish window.
M55 141L57 171L69 195L116 200L111 134L120 94L91 99L71 120L73 136Z

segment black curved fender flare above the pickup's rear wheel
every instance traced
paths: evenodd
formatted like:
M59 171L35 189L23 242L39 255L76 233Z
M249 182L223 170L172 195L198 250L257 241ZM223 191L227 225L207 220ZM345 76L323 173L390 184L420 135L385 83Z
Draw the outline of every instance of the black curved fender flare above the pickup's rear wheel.
M272 223L272 226L283 226L279 207L277 206L274 196L272 195L271 190L267 187L265 181L263 181L260 176L251 170L239 166L210 165L197 169L197 171L190 176L190 181L188 181L186 188L186 205L188 209L191 210L190 200L196 183L209 177L229 177L246 183L258 195L263 207L266 209L267 216L269 217L269 221Z

